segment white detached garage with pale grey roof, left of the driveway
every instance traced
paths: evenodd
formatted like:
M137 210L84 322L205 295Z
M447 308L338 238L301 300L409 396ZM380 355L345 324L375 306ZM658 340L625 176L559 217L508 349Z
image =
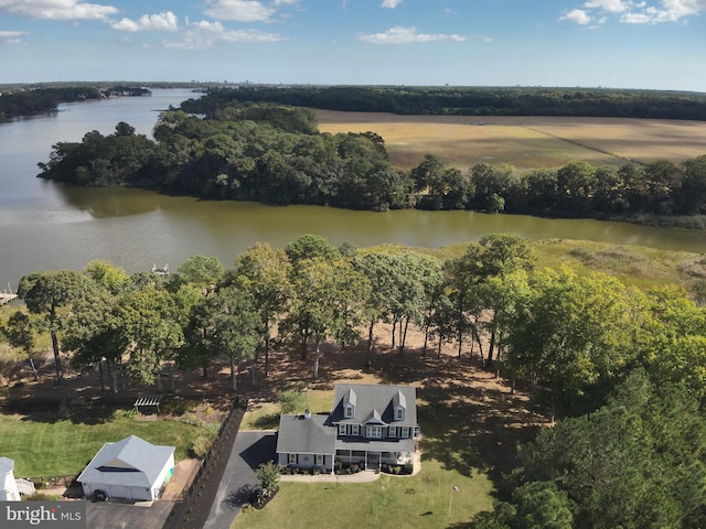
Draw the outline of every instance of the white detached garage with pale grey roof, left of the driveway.
M84 495L98 500L158 499L174 472L174 446L159 446L130 435L103 445L78 476Z

